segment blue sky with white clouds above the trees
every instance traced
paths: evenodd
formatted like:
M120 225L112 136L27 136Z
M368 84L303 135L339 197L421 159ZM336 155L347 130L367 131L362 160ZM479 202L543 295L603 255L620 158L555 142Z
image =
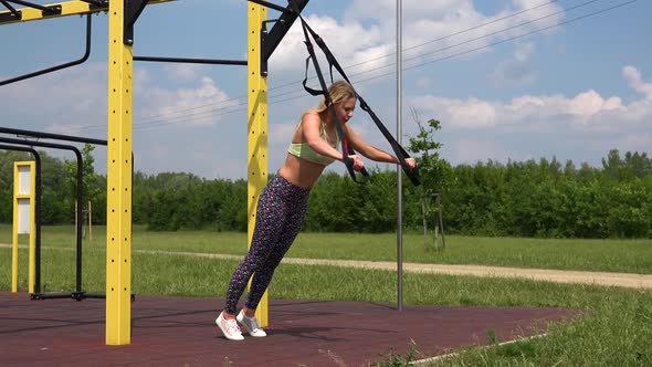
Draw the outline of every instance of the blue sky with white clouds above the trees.
M396 3L312 0L304 10L392 133ZM245 6L149 6L136 24L134 54L245 60ZM416 135L414 111L421 122L442 123L440 153L453 165L556 157L600 166L613 148L652 155L651 1L403 0L402 9L403 143ZM301 85L306 51L297 25L270 62L270 171L282 165L302 111L317 103ZM86 63L0 87L0 126L105 139L106 33L106 14L94 15ZM85 19L7 24L0 34L6 80L80 57ZM245 95L244 66L136 62L136 169L244 178ZM350 123L389 149L364 112ZM95 158L104 174L106 149L97 147Z

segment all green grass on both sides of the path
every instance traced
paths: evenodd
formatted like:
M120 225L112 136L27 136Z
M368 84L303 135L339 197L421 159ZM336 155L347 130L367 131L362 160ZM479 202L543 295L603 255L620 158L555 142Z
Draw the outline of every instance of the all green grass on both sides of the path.
M7 229L7 228L1 228ZM67 234L67 233L71 234ZM70 292L75 286L72 228L44 228L43 292ZM0 242L8 243L1 234ZM413 235L413 238L411 238ZM104 293L104 233L84 243L83 289ZM148 233L135 229L134 248L144 250L244 253L244 233ZM448 249L423 249L423 238L407 234L406 261L481 263L578 270L650 273L650 241L587 241L446 238ZM21 237L21 242L24 242ZM408 243L409 242L409 243ZM302 233L293 256L327 259L396 259L396 235ZM28 251L20 250L21 290L27 290ZM222 297L238 261L133 255L136 294ZM11 250L0 249L0 290L10 289ZM336 280L346 280L339 282ZM318 286L315 286L318 284ZM344 300L396 302L396 272L282 264L270 289L273 300ZM406 304L549 306L582 308L572 323L549 325L546 337L488 348L467 347L434 366L652 366L652 292L596 285L572 285L514 279L484 279L406 273ZM491 331L486 331L492 340ZM419 345L414 346L419 358ZM392 356L382 366L402 366L412 356Z

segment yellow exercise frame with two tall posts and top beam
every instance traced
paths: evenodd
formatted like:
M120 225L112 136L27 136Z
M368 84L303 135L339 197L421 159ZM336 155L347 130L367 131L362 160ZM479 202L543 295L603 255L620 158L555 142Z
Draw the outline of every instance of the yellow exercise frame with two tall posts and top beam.
M149 0L148 4L173 0ZM108 9L84 1L69 1L61 13L43 15L40 10L17 9L22 19L0 24L73 14L108 12L108 119L106 193L106 344L132 342L132 167L133 167L133 48L124 44L125 1L112 0ZM0 14L9 13L2 11ZM257 198L267 184L267 81L261 74L261 30L267 8L248 3L248 210L249 241L255 223ZM32 282L31 282L32 283ZM256 317L267 326L267 293Z

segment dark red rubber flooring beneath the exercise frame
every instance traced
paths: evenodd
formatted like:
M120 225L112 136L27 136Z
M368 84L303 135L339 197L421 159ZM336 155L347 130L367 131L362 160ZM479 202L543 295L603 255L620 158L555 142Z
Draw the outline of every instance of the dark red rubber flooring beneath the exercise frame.
M270 301L269 336L227 340L213 324L219 298L136 295L132 344L105 345L102 298L35 300L0 292L1 366L368 366L421 358L469 344L543 332L577 310L406 306L368 302Z

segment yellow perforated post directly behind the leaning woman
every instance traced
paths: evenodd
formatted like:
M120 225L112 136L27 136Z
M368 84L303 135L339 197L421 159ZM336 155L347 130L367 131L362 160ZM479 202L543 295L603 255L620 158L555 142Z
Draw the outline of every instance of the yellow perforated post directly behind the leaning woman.
M267 8L248 3L248 247L255 226L257 199L267 184L267 78L261 74L261 30ZM267 326L267 292L256 308L261 327Z

